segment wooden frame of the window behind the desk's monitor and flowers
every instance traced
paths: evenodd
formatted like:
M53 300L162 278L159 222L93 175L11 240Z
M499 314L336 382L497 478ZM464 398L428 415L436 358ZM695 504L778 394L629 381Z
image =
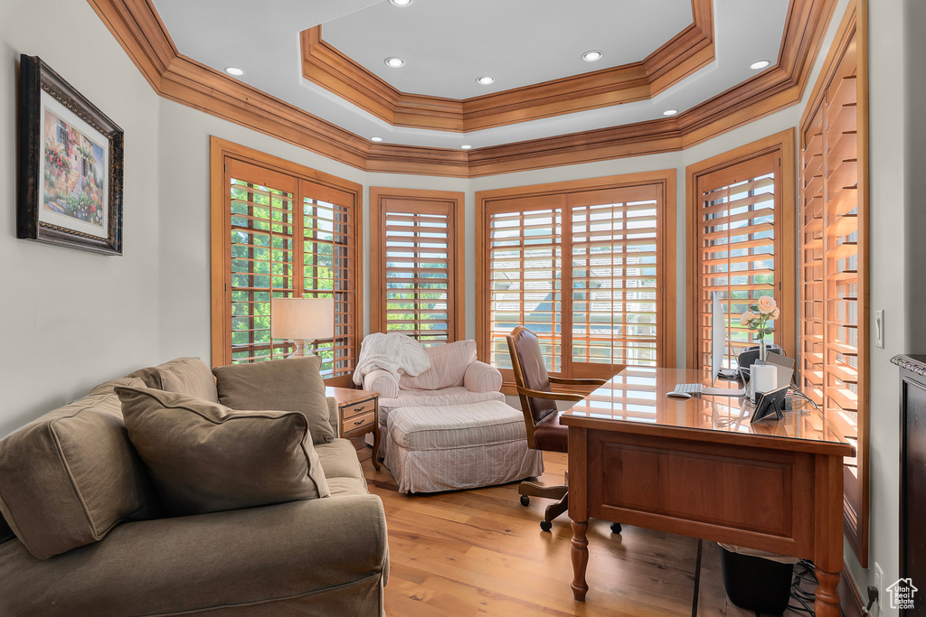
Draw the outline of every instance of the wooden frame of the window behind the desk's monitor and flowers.
M712 156L694 165L685 167L687 178L685 191L687 202L687 254L688 277L686 283L687 306L687 366L688 368L702 368L701 357L698 352L701 313L697 310L700 305L701 290L701 262L698 230L701 225L700 195L698 189L699 179L708 174L734 167L750 160L768 154L777 153L781 156L781 181L776 179L780 187L779 194L775 195L775 282L779 283L776 300L781 307L781 316L776 320L774 328L781 333L777 339L784 352L795 357L795 324L797 323L797 302L795 298L795 141L794 129L782 130L756 142L729 152Z

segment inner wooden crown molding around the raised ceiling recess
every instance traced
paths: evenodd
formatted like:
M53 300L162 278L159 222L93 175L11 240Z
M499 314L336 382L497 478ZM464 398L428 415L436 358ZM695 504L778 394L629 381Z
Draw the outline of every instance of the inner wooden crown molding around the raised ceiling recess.
M714 59L713 0L640 62L469 99L403 93L321 38L302 31L303 77L394 126L466 132L652 98Z

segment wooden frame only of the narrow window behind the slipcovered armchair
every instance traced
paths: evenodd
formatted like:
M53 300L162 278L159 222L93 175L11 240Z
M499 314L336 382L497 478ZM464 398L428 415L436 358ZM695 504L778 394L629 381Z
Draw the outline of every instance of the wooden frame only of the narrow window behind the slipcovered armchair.
M448 263L451 269L448 286L448 318L450 321L448 340L462 340L466 337L466 287L464 272L465 256L465 201L464 193L456 191L426 191L415 189L393 189L370 187L370 307L369 325L371 332L386 332L386 260L385 260L385 201L389 199L417 202L422 206L449 204L450 223ZM397 330L398 331L398 330Z

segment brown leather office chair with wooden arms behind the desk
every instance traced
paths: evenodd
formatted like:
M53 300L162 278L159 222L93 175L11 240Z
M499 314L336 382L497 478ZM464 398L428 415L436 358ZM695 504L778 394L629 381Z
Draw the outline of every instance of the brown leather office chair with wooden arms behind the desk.
M586 386L599 388L607 383L605 379L562 379L546 374L544 356L540 351L540 341L531 330L519 326L507 336L508 352L515 373L515 386L524 412L524 424L527 427L528 446L535 450L566 452L569 450L569 429L559 424L557 401L579 402L585 397L581 394L554 391L553 385ZM567 475L566 482L569 482ZM532 497L556 500L546 507L544 520L540 528L549 531L553 519L569 507L569 490L566 484L544 486L527 480L518 487L521 505L527 506ZM620 524L612 524L611 531L620 533Z

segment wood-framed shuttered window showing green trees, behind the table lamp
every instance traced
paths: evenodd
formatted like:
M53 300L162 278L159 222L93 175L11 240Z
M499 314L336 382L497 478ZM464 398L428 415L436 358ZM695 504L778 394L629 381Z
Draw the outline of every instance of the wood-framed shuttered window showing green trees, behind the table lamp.
M270 298L333 298L334 337L315 342L322 376L357 361L360 186L213 138L212 362L285 357Z

